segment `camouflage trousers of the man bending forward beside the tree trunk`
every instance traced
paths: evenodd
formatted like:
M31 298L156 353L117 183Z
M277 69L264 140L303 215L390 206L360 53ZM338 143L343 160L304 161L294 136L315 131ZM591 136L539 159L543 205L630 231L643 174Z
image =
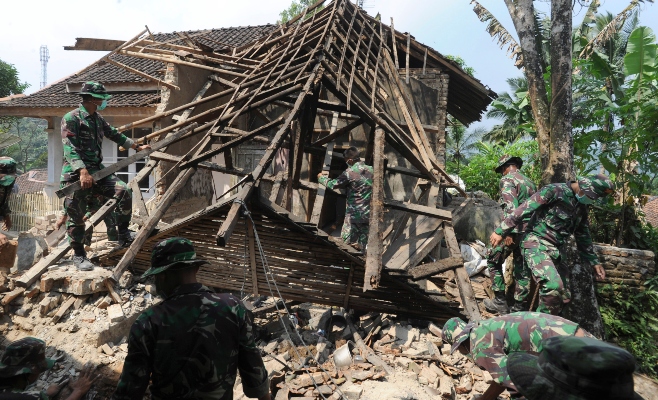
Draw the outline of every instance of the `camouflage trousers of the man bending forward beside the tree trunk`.
M536 236L528 236L523 247L526 263L539 286L537 312L559 315L571 300L569 270L560 263L560 250Z

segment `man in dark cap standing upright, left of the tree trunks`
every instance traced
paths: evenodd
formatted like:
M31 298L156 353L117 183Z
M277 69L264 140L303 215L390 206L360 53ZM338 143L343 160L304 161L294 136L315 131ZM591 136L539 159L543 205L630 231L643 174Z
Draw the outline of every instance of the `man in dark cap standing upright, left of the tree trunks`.
M504 155L498 160L498 167L494 169L497 173L502 174L500 179L500 205L503 208L503 219L509 217L521 203L537 191L537 187L530 178L519 171L522 166L523 160L521 158ZM491 289L495 298L493 300L484 300L484 306L491 312L499 314L509 312L507 300L505 299L503 263L510 254L513 254L514 257L513 268L516 283L514 291L515 304L512 306L512 312L527 310L525 303L530 292L530 270L523 262L519 242L523 239L523 233L528 222L530 222L530 217L526 218L520 226L514 228L510 235L505 237L502 244L494 247L487 258Z

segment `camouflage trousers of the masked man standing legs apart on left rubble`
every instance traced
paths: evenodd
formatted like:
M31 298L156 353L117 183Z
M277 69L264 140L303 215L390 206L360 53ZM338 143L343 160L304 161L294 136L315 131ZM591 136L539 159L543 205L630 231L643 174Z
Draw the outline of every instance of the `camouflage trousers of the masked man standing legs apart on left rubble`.
M62 182L61 187L68 185L70 182ZM64 212L68 214L69 219L66 221L66 231L69 237L69 243L75 251L76 248L82 249L85 240L85 222L84 217L87 213L87 207L93 204L94 197L100 195L104 199L114 197L118 204L114 209L116 222L119 231L127 229L132 214L132 192L128 185L116 175L112 174L97 182L89 189L77 190L73 194L66 196L64 199Z

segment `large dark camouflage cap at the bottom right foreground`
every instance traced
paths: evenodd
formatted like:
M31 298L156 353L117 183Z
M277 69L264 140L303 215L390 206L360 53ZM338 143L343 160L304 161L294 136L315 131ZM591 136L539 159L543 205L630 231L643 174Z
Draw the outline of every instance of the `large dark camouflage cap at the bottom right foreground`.
M528 399L633 399L635 359L600 340L555 336L544 340L539 356L509 355L507 371Z

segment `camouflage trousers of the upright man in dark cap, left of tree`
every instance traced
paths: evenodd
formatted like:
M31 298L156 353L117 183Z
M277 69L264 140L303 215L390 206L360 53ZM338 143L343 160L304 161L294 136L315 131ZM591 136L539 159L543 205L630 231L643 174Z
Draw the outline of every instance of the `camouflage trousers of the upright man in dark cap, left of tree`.
M514 257L514 300L523 302L530 293L530 269L523 260L523 252L519 247L521 235L511 235L514 244L505 246L503 243L494 247L487 257L487 268L491 278L491 289L494 292L505 291L505 278L503 277L503 263L510 254ZM509 268L509 267L508 267Z

